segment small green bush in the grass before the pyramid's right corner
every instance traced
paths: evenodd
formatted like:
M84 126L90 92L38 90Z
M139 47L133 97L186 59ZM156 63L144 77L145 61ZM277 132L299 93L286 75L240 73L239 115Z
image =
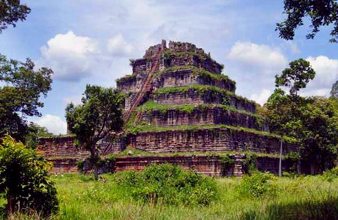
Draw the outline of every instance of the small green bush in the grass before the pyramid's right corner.
M251 176L245 175L238 190L241 195L251 198L274 196L276 187L270 182L275 176L269 173L255 172Z

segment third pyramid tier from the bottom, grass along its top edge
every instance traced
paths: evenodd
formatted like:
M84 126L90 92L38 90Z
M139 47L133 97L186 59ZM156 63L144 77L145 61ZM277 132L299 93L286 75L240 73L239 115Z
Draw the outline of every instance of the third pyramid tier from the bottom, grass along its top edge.
M268 131L262 116L225 105L169 106L148 101L138 111L142 112L141 123L158 127L225 124Z

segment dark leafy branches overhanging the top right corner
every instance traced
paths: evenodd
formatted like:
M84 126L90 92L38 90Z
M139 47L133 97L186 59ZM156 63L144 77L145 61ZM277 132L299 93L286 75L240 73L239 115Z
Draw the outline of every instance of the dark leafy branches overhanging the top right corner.
M321 26L332 25L330 42L338 40L338 1L337 0L284 0L284 14L288 17L283 22L277 23L276 30L279 37L293 40L295 29L304 25L303 19L311 19L311 32L307 39L314 39Z

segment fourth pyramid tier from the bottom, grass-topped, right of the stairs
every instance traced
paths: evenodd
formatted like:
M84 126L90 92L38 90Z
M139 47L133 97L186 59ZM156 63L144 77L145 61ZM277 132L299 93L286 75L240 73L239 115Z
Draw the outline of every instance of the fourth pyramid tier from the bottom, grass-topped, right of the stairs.
M155 91L154 101L164 105L224 104L252 113L256 110L255 102L212 86L159 88Z

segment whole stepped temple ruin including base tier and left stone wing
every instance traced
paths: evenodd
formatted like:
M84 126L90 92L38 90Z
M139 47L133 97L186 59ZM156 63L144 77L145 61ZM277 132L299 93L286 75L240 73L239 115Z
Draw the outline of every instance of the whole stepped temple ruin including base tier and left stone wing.
M132 74L117 80L125 95L123 134L102 141L104 155L126 149L147 152L117 156L106 171L141 170L150 163L174 163L206 175L243 174L248 153L257 167L277 172L280 137L256 114L256 103L236 95L236 83L222 74L223 65L194 44L166 41L130 60ZM75 148L74 137L41 138L39 149L54 162L55 172L76 172L88 155ZM286 142L283 154L296 151ZM222 155L234 158L224 172ZM285 160L288 169L290 161Z

